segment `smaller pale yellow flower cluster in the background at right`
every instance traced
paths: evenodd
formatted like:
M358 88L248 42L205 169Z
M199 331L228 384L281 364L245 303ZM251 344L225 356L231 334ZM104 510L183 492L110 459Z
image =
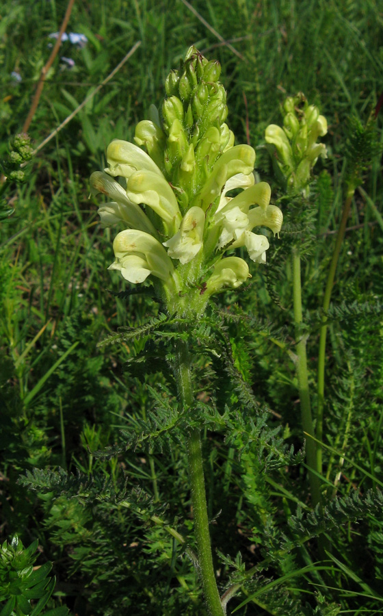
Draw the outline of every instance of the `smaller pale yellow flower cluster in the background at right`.
M282 114L283 128L271 124L265 131L276 174L287 190L307 192L318 157L327 157L326 146L317 143L327 133L327 120L302 92L286 99Z

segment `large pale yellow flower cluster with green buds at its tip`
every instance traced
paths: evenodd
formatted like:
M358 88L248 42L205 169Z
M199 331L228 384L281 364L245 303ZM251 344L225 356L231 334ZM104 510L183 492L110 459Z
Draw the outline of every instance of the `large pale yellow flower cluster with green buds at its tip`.
M161 117L152 105L135 144L111 142L107 168L90 178L92 194L108 198L98 209L103 227L125 227L109 269L131 283L152 274L168 300L176 293L192 301L194 293L206 303L238 287L250 276L248 264L227 251L244 246L264 263L269 242L253 229L279 233L282 225L269 185L254 183L254 149L234 145L219 77L220 64L191 47L166 79Z

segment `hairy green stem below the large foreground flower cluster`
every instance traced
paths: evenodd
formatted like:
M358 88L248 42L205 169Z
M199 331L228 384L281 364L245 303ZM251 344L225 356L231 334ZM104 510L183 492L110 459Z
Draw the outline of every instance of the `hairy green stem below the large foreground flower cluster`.
M177 342L178 357L178 389L184 407L192 407L194 402L191 358L187 343L183 340ZM224 616L220 594L215 581L213 555L209 533L209 519L207 516L207 500L204 487L204 472L202 460L202 447L200 431L193 428L187 438L187 460L189 463L190 483L192 487L192 503L194 515L194 529L198 549L198 565L202 580L202 589L207 603L209 615Z

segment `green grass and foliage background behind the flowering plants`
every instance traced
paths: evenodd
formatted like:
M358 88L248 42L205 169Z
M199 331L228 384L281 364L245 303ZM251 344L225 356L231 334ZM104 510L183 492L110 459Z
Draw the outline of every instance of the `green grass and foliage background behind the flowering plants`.
M29 129L34 146L135 42L140 47L29 162L25 182L7 185L1 196L2 211L12 209L12 214L3 216L0 230L0 530L3 539L15 532L25 544L39 539L41 562L55 563L57 604L80 616L204 615L192 563L163 526L153 527L144 515L137 517L106 497L88 503L85 497L57 498L53 490L32 493L16 483L34 467L78 469L98 477L101 488L105 479L116 492L126 477L130 487L142 487L156 506L168 504L163 519L181 519L186 534L192 528L182 443L168 452L129 451L107 461L92 455L121 442L121 428L138 429L153 409L147 385L161 383L161 378L137 378L125 370L142 342L97 348L119 326L144 323L157 312L157 304L140 295L122 300L107 292L122 290L124 283L107 272L113 231L99 227L96 201L88 199L90 173L105 166L112 139L131 140L150 104L160 105L166 75L190 44L221 62L228 125L237 142L250 139L256 170L272 183L274 199L278 190L265 149L265 127L280 122L279 104L287 95L303 91L318 105L328 119L328 159L315 169L319 181L310 206L315 210L315 242L304 261L314 383L316 311L343 203L347 120L353 115L365 123L383 92L383 7L378 0L198 0L193 7L241 57L181 0L75 3L67 31L85 34L88 43L82 49L62 44ZM65 10L66 3L55 0L3 2L0 159L21 130L49 57L49 34L60 29ZM62 56L72 57L75 66L66 67ZM12 71L21 75L19 83ZM382 112L375 131L382 144ZM334 304L343 312L330 322L328 342L325 442L345 454L345 460L340 466L341 456L328 450L326 480L333 483L342 472L339 493L344 496L382 485L382 320L379 311L366 309L382 300L383 290L382 227L376 213L382 211L380 154L371 157L363 188L368 198L356 192L349 219L354 229L346 235L334 290ZM254 268L251 293L225 294L218 303L237 303L241 311L285 328L289 342L291 274L280 244L274 242L272 251L276 257L267 275ZM274 295L282 310L272 301ZM351 306L359 308L352 311ZM345 320L347 310L352 313ZM229 333L241 372L261 404L274 411L271 424L281 425L286 440L299 448L303 438L293 363L256 327L231 326ZM221 393L224 399L224 389ZM298 503L308 510L305 470L298 466L265 475L256 448L239 459L239 441L225 444L214 433L205 437L209 515L222 510L212 526L213 544L231 559L241 550L248 568L263 558L262 546L266 552L274 550L273 533L287 532ZM314 612L321 602L319 595L315 600L318 590L341 613L382 613L382 517L365 510L359 525L343 520L329 537L333 550L325 555L327 572L316 570L314 563L323 553L317 552L315 540L308 541L296 554L274 559L265 576L279 580L276 587L269 588L268 578L260 577L245 589L248 595L254 588L264 590L239 613L336 613L331 608ZM221 561L217 567L224 586L230 565ZM293 577L285 579L289 572ZM230 603L231 609L243 598ZM301 608L292 607L298 603Z

